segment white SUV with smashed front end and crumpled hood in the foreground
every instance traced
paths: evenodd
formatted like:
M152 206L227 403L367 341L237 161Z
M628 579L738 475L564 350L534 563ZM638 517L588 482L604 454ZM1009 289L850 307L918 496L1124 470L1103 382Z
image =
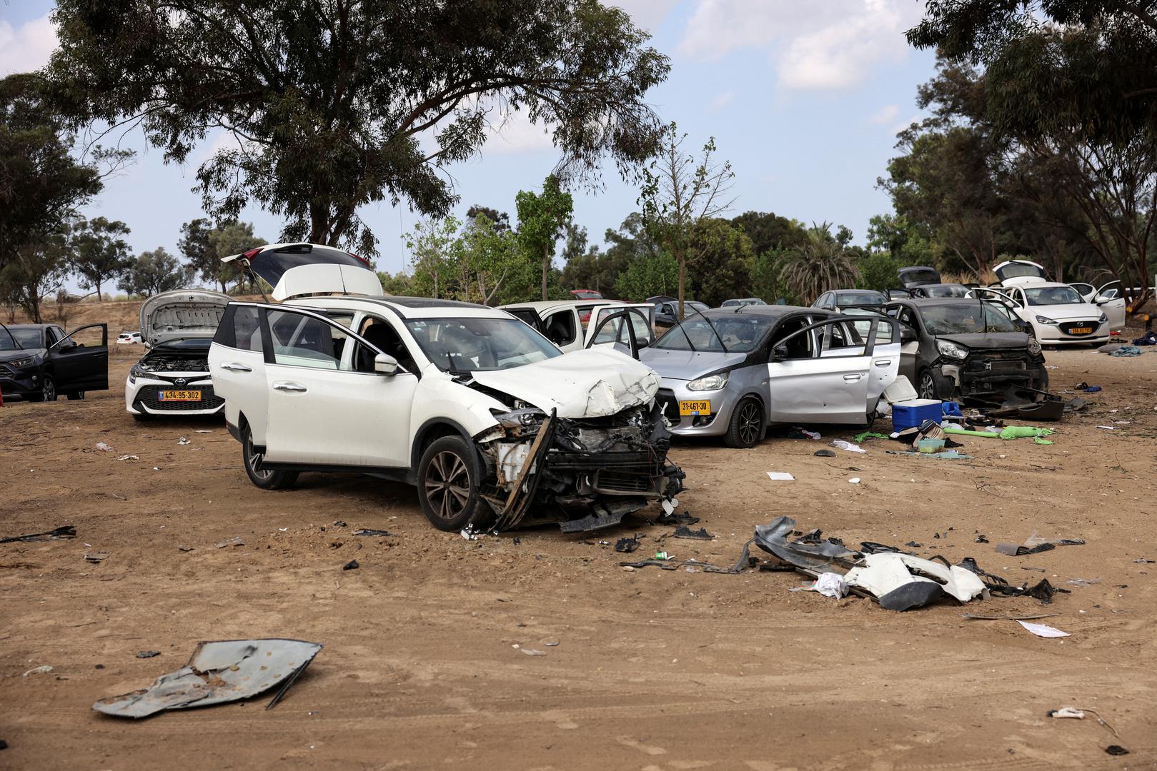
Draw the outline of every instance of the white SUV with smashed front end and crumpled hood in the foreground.
M440 529L561 521L567 532L613 525L680 489L658 376L631 356L563 354L494 307L383 297L368 269L361 281L346 266L257 258L242 265L294 291L277 292L279 305L231 303L209 349L257 487L361 472L417 485Z

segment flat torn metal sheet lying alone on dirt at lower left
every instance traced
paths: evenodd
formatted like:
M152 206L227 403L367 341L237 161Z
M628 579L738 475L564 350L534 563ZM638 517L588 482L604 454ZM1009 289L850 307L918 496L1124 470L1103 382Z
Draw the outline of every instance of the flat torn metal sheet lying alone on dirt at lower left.
M199 643L180 669L161 675L143 690L102 698L93 709L116 717L146 718L164 710L249 698L279 683L283 683L283 692L320 650L320 643L278 638Z

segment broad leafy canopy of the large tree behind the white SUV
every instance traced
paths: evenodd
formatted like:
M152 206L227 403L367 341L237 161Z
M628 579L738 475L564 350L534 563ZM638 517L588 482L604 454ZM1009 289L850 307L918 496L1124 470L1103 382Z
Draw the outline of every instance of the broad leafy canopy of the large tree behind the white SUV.
M206 213L258 202L286 238L375 253L366 203L445 216L443 168L478 155L495 106L551 129L560 177L651 155L644 101L666 57L597 0L59 0L47 67L76 123L139 117L184 163L211 129L237 147L197 171Z

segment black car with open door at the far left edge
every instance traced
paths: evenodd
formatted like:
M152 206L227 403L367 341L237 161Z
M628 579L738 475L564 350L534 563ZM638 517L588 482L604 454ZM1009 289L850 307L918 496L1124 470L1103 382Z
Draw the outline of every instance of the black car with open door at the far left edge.
M0 324L0 392L29 401L83 399L109 387L109 325Z

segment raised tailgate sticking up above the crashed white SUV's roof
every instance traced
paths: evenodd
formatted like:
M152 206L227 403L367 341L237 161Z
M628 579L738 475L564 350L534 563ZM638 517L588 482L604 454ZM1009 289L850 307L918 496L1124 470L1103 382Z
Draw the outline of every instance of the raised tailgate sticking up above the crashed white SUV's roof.
M382 282L369 262L340 249L320 244L271 244L243 254L221 258L244 260L273 288L273 299L308 295L367 295L383 297Z

